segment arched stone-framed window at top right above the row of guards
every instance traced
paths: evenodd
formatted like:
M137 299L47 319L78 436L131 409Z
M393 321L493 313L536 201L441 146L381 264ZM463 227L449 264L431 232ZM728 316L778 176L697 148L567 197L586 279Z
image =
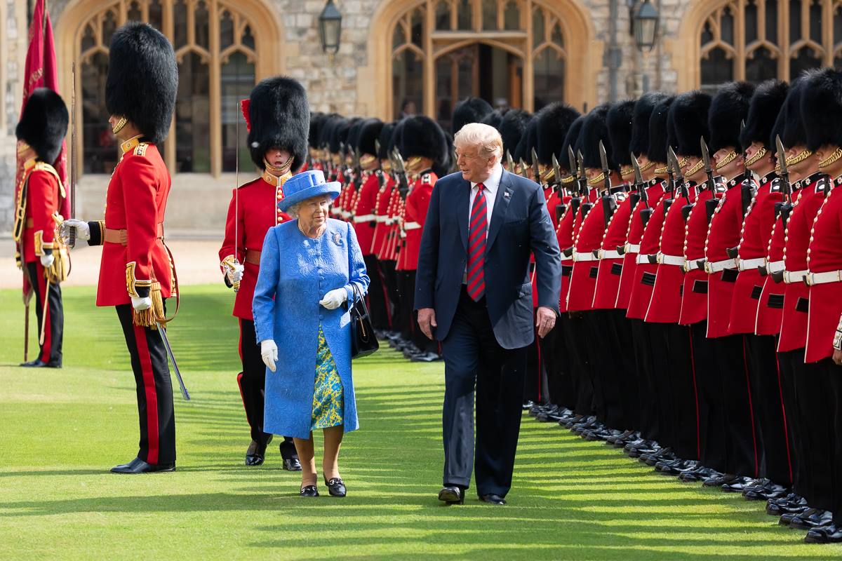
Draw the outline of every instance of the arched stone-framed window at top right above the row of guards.
M679 36L694 40L686 46L698 66L679 61L679 89L715 92L732 80L792 80L808 68L842 62L842 0L716 0L690 12L684 20L690 28Z

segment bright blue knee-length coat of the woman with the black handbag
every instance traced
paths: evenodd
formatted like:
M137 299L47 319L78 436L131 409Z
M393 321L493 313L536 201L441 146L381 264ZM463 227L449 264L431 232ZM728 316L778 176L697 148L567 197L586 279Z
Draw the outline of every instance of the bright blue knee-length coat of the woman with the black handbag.
M252 308L257 340L278 346L277 370L266 369L264 431L308 438L316 381L318 327L321 323L344 392L345 431L360 427L351 378L350 315L347 306L328 310L318 301L334 288L350 283L368 289L362 251L354 228L328 219L325 233L307 238L290 220L266 233Z

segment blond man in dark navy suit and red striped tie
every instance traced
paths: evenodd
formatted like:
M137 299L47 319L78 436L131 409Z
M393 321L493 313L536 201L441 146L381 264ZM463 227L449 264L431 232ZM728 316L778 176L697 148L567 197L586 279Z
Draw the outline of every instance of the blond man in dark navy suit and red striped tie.
M445 357L444 488L461 503L474 462L480 500L504 505L512 484L526 370L525 349L558 315L561 254L544 193L500 166L503 141L487 124L455 139L461 170L439 179L418 259L418 324ZM532 312L530 254L539 308Z

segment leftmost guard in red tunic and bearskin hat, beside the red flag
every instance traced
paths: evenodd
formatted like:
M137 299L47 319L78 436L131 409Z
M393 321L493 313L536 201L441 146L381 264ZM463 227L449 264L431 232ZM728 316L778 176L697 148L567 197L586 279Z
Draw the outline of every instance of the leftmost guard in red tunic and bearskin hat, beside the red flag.
M29 95L15 129L24 162L14 214L15 257L24 270L24 290L35 294L40 344L38 357L24 367L61 368L61 281L67 277L67 250L56 238L56 225L66 193L53 164L67 134L67 119L61 96L40 87Z

